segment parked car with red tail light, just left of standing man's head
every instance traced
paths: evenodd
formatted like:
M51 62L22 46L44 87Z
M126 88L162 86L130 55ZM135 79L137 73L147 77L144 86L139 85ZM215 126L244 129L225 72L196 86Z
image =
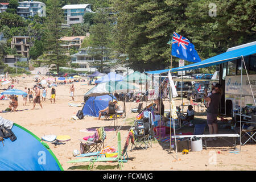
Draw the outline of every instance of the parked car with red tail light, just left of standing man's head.
M196 102L200 102L200 100L204 97L204 89L208 89L209 82L196 82L188 89L187 98L190 97L194 99Z

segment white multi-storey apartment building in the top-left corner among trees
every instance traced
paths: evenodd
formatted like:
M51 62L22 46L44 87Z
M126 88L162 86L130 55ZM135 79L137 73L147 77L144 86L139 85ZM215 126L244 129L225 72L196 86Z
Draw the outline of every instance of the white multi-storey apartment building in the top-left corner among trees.
M19 2L17 14L26 19L28 16L46 16L46 4L33 0Z

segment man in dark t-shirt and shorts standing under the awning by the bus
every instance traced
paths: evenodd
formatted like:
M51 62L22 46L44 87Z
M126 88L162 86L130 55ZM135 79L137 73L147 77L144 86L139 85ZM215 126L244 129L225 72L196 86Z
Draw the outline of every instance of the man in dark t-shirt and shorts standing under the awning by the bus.
M217 115L218 115L218 107L220 105L222 89L220 84L216 84L214 86L214 92L209 97L204 97L205 101L210 101L208 113L207 113L207 125L209 127L210 134L218 134L218 125L217 125ZM216 140L216 138L209 138L210 140Z

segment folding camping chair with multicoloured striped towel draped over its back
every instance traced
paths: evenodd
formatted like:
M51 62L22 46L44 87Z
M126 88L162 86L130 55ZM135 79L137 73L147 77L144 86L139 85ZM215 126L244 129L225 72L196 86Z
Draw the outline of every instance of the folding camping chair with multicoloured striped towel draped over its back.
M96 129L94 136L89 137L88 140L85 140L85 143L80 143L80 152L81 154L86 154L89 152L101 151L104 148L104 140L106 138L106 131L104 127Z

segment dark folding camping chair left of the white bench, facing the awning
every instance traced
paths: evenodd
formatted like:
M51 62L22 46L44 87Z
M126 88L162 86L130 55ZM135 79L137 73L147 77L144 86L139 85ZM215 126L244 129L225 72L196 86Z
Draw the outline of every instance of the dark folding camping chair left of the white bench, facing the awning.
M148 147L152 147L152 139L154 139L154 132L152 130L152 123L149 118L143 118L135 121L134 128L134 144L131 146L131 150L133 145L136 148L142 147L147 150ZM144 144L144 146L143 146Z

